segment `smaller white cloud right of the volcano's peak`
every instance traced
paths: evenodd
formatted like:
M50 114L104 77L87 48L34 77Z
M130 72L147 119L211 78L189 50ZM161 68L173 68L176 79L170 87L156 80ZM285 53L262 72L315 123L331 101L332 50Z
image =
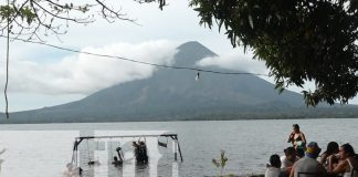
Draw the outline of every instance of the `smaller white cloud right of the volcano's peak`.
M259 60L253 60L252 54L243 54L240 50L234 50L220 56L204 58L197 63L200 66L220 66L240 72L250 72L257 74L267 74L268 70L265 63Z

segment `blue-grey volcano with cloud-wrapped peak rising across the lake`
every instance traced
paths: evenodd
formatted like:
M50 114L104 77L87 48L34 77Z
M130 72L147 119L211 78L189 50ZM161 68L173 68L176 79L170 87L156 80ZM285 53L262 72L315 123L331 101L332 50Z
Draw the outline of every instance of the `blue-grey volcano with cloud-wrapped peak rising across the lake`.
M194 67L215 53L198 42L178 46L176 66ZM210 67L215 71L227 71ZM230 71L229 71L230 72ZM35 111L13 113L25 122L104 122L190 119L208 115L276 112L304 107L301 94L284 91L255 75L223 75L158 69L151 77L122 83L81 101Z

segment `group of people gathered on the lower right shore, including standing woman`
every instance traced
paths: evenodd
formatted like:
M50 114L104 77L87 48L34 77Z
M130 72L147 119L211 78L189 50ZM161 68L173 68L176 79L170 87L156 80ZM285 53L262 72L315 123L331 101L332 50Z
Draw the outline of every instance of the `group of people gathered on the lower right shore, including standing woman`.
M307 144L297 124L288 136L292 146L284 149L284 156L270 157L265 177L358 177L358 155L350 144L330 142L322 149L316 142Z

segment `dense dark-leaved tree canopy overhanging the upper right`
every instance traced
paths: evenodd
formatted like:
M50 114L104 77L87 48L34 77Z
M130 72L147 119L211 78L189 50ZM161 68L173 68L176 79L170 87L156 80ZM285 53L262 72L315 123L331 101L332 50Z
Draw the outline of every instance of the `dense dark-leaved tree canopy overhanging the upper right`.
M200 24L265 61L276 88L303 87L307 105L348 103L358 92L358 0L191 0Z

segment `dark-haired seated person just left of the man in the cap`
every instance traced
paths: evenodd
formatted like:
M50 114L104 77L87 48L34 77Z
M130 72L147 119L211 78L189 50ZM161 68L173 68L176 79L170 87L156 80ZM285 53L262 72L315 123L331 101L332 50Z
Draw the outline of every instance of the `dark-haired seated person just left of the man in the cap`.
M284 149L285 155L281 157L281 170L282 177L288 177L293 165L299 159L297 157L296 149L294 147L287 147Z

